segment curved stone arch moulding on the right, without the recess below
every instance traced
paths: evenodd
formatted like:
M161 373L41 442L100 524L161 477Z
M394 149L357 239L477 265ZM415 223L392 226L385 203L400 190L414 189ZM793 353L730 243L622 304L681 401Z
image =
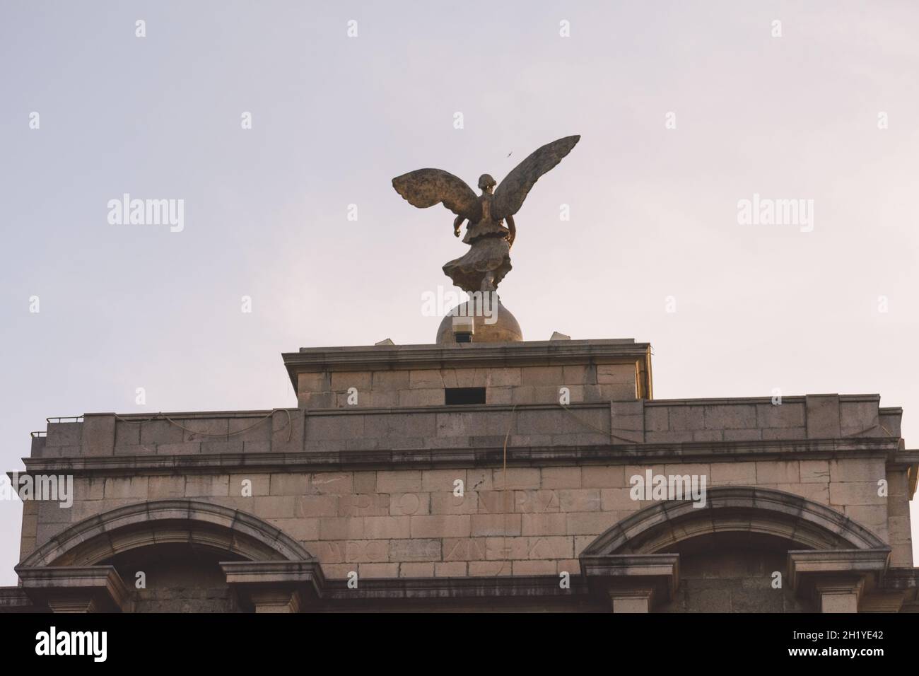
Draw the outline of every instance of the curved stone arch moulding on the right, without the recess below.
M655 554L709 533L774 535L810 549L873 549L887 544L833 508L781 490L709 488L705 507L662 501L619 521L580 556Z

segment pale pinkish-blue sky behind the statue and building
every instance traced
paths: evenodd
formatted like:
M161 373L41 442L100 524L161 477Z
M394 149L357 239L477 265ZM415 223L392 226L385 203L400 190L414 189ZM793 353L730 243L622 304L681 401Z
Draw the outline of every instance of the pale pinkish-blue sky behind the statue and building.
M656 398L879 393L915 447L917 28L909 1L7 0L2 469L46 417L294 406L283 351L433 342L421 295L466 247L391 178L500 181L573 133L516 215L525 338L651 342ZM109 224L126 192L184 230ZM739 224L754 194L812 200L812 232ZM0 501L0 584L20 520Z

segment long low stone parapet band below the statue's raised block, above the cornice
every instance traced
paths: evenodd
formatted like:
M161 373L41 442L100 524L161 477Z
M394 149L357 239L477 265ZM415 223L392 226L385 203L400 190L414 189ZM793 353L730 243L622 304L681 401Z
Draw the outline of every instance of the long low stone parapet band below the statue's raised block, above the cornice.
M556 393L557 394L557 393ZM878 395L216 413L86 414L50 422L31 455L188 455L713 441L899 439ZM168 419L167 419L168 418ZM52 418L53 419L53 418Z

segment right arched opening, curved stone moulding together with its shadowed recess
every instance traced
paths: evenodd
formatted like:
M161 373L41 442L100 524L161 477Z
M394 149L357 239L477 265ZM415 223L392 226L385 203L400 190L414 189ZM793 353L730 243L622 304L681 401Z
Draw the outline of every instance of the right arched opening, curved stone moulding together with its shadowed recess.
M584 549L582 569L594 579L607 576L614 608L616 598L624 602L634 596L631 588L656 579L657 589L667 590L656 595L658 612L813 612L820 599L796 593L791 556L836 552L844 555L836 558L857 560L852 553L865 554L874 570L890 552L845 514L784 491L716 487L704 507L694 504L655 503ZM650 609L650 602L645 605Z

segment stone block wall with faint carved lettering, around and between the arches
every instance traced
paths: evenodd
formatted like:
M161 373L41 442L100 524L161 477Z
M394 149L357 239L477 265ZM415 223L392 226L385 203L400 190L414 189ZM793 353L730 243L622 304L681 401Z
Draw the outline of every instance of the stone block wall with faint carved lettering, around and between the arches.
M911 566L903 472L883 458L597 464L346 472L249 472L77 477L74 506L37 505L24 524L28 556L68 525L133 502L195 498L255 514L299 541L329 578L465 577L579 572L577 557L618 521L652 504L630 477L704 475L709 487L758 486L845 513ZM889 478L891 495L879 496ZM251 496L243 497L244 482ZM462 482L463 495L454 495Z

